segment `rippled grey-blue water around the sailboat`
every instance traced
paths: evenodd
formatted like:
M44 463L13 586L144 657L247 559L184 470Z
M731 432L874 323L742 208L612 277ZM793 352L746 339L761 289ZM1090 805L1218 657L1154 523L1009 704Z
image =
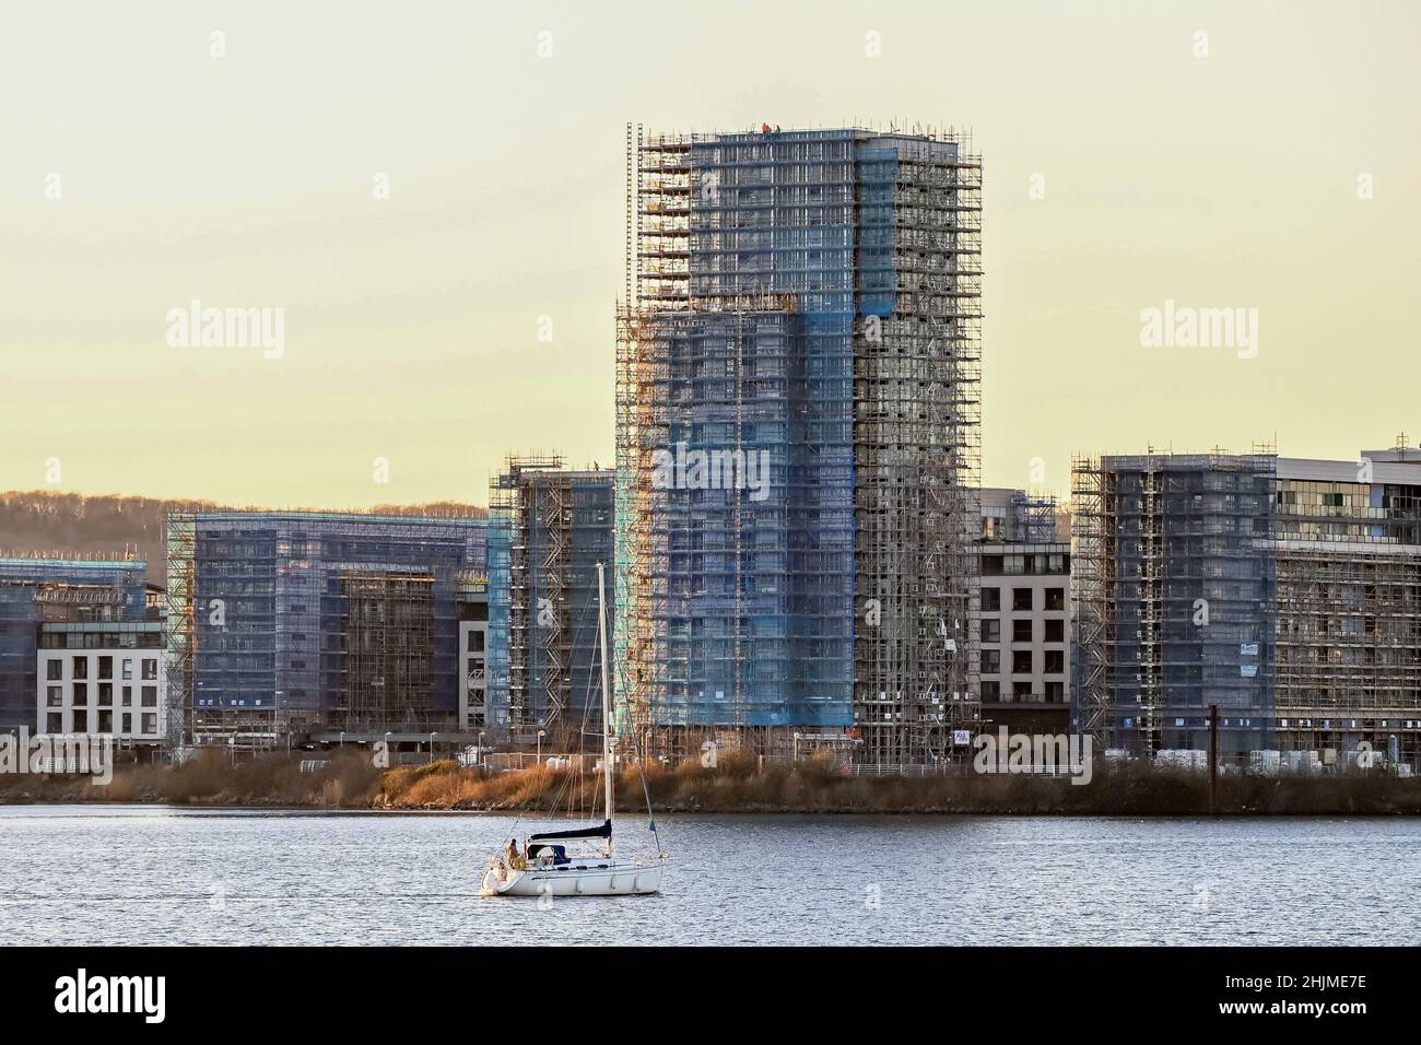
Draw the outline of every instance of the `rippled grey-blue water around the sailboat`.
M527 829L523 822L519 833ZM665 893L480 899L506 816L4 806L9 944L1414 944L1421 820L668 816ZM645 823L628 820L639 846ZM620 832L621 833L621 832Z

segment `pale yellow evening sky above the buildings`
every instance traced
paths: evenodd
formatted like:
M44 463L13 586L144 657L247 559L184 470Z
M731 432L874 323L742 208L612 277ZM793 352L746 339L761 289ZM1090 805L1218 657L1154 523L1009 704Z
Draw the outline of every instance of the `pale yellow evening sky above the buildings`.
M510 451L610 466L628 121L971 128L988 485L1415 444L1418 11L16 6L0 489L486 503ZM182 347L193 300L281 310L280 350ZM1167 301L1235 340L1150 344Z

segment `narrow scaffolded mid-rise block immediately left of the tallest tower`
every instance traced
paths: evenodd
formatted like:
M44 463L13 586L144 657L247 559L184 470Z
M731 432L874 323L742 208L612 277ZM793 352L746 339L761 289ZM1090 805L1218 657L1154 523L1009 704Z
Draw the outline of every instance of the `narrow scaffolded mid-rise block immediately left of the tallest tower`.
M507 542L507 724L519 742L541 731L553 749L578 751L590 712L601 729L597 564L611 628L612 479L560 456L510 455L489 483Z

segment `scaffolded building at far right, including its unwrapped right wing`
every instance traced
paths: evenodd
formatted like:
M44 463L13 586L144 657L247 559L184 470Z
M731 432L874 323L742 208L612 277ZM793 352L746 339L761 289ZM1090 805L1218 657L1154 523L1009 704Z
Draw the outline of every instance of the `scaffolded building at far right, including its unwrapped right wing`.
M1421 454L1077 458L1074 700L1106 748L1418 763Z

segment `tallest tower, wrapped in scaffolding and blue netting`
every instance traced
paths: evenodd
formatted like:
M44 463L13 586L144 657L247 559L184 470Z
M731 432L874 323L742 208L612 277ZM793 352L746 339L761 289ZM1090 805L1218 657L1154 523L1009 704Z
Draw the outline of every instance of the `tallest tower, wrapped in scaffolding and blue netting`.
M617 680L647 749L966 754L980 171L931 128L628 127ZM739 479L668 483L674 449Z

